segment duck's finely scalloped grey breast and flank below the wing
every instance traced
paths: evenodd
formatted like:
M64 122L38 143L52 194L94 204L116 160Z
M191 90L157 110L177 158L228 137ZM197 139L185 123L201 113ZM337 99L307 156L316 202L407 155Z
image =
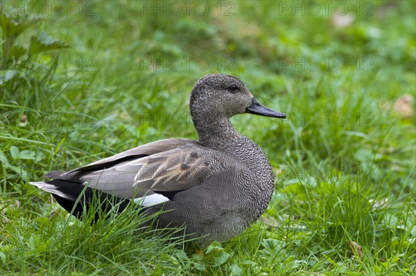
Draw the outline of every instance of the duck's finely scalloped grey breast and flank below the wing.
M263 151L240 134L203 152L219 157L207 164L211 177L151 212L175 210L160 215L159 226L185 224L189 233L197 233L203 237L200 243L207 245L227 241L256 221L270 202L274 178Z

